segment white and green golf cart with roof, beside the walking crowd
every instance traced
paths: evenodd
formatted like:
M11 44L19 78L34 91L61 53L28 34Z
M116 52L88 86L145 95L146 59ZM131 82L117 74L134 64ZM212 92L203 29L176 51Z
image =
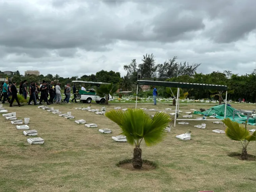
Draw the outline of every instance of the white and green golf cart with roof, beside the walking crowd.
M75 84L76 88L77 88L77 84L78 84L76 98L80 99L80 101L82 101L83 103L90 104L92 101L95 101L97 104L104 104L106 102L105 97L100 97L100 96L96 95L96 92L93 87L100 86L101 84L110 84L110 83L92 82L92 81L72 81L72 83ZM90 84L91 88L81 90L81 87L82 87L81 84L82 85ZM111 99L111 98L112 98L112 96L109 96L108 99Z

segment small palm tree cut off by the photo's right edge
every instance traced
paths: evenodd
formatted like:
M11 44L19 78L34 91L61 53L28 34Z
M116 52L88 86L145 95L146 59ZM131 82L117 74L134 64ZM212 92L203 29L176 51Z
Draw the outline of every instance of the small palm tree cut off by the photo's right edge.
M248 154L246 148L250 141L255 141L255 131L252 135L250 134L246 129L247 121L245 121L245 128L243 125L239 125L237 122L231 121L229 118L223 119L222 122L227 126L227 129L225 130L226 136L231 140L241 141L243 145L241 159L247 160Z

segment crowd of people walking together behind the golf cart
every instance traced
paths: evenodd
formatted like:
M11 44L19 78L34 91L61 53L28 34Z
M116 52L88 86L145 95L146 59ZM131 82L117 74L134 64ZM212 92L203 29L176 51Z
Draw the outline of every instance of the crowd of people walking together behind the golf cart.
M22 95L25 99L27 99L27 95L29 94L29 102L28 105L32 105L32 100L34 102L34 105L42 104L42 101L46 102L47 105L56 103L56 104L61 104L62 102L64 103L69 103L70 100L70 95L71 95L71 85L67 83L65 85L64 89L64 94L65 98L62 100L62 95L61 95L61 88L60 88L60 83L54 84L54 81L50 82L49 84L46 83L46 81L42 81L40 85L37 83L31 82L29 86L27 86L27 80L21 82L19 84L19 94ZM76 101L76 92L77 89L75 87L75 84L73 85L73 94L74 98L71 100ZM10 107L13 107L12 104L14 100L18 103L18 106L21 106L19 103L19 99L17 97L17 87L16 87L16 82L9 82L6 80L4 83L2 83L2 86L0 87L0 101L2 101L2 104L4 104L6 101L9 102ZM40 98L38 94L41 93ZM10 96L12 97L10 99ZM50 96L49 100L48 97ZM3 100L2 100L3 98ZM38 102L37 102L38 101Z

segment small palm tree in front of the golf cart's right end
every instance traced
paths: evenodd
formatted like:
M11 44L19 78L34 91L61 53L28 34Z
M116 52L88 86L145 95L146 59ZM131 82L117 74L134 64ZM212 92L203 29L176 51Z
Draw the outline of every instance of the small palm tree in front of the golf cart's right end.
M106 98L106 105L108 105L108 96L113 95L118 89L118 86L111 84L101 84L99 87L96 87L96 94Z

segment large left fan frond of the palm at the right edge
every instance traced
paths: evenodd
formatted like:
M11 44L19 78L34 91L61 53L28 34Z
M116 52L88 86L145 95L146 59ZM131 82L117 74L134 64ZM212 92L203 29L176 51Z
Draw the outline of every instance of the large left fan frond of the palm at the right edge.
M222 122L227 126L226 136L231 140L241 141L250 136L249 131L237 122L231 121L229 118L223 119Z

